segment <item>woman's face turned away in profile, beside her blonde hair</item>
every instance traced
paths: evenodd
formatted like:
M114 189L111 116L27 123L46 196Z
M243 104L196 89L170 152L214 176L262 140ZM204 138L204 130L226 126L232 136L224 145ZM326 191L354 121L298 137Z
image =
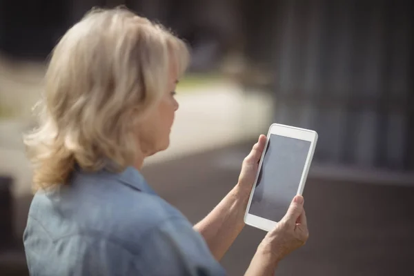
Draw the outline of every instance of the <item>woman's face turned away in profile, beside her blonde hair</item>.
M147 119L142 121L138 129L139 148L144 156L150 156L161 150L166 150L170 144L170 132L174 122L175 111L179 105L175 99L175 89L178 83L175 64L170 67L168 89L162 95L158 105L150 112Z

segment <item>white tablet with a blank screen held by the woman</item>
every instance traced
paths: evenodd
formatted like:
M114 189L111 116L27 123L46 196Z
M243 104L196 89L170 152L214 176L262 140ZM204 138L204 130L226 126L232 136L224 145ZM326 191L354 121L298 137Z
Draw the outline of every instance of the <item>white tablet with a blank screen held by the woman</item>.
M250 226L272 230L295 195L302 195L317 132L293 126L270 126L259 170L244 215Z

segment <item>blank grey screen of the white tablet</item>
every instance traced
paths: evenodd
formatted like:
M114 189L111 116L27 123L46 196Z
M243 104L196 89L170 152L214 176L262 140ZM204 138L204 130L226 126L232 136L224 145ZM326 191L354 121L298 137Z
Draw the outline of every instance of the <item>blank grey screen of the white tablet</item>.
M297 194L311 141L270 135L248 213L280 221Z

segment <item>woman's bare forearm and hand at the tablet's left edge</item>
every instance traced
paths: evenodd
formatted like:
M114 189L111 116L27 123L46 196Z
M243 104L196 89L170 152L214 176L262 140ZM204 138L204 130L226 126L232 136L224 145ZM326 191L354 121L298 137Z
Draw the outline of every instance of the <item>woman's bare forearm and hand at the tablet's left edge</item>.
M244 227L244 213L265 144L266 136L260 135L259 141L243 161L235 188L230 190L207 217L194 226L217 260L224 256Z

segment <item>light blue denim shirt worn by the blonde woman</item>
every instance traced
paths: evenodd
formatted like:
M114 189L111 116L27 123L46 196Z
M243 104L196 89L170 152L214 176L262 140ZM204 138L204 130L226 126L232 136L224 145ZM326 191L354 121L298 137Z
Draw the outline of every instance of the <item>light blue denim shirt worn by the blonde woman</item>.
M190 222L127 168L77 170L38 192L23 236L30 275L224 275Z

